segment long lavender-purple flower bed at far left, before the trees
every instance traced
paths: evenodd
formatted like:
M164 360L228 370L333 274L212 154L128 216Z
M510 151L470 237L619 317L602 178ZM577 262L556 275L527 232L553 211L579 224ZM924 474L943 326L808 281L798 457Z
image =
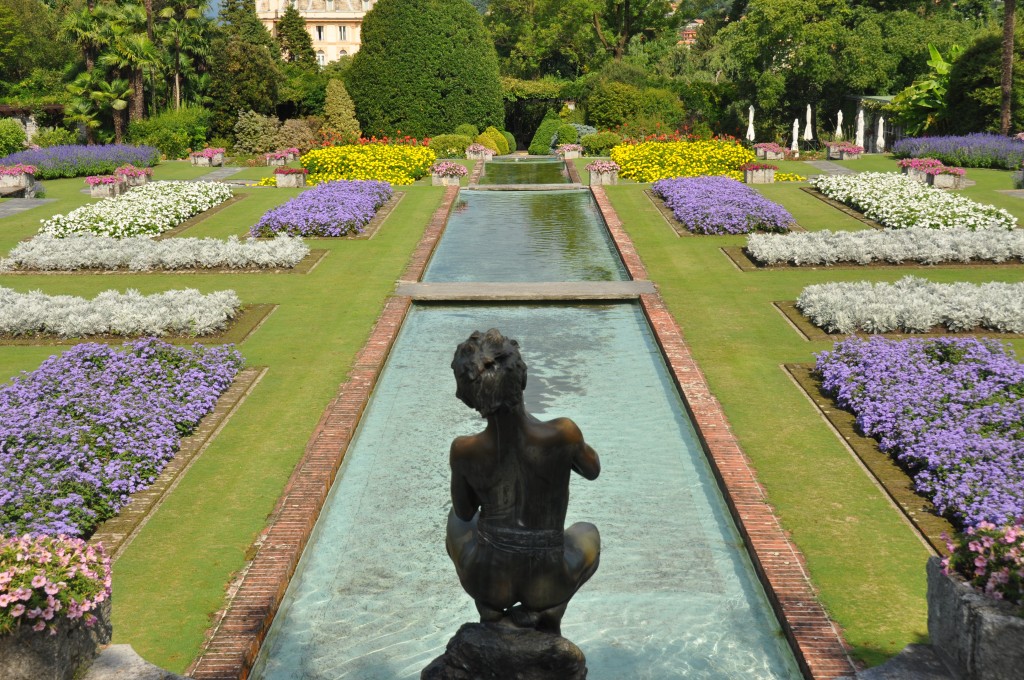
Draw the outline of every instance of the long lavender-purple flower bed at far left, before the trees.
M148 167L160 163L160 151L153 146L72 144L47 146L0 158L0 165L26 163L36 166L36 179L58 179L84 175L113 175L122 165Z

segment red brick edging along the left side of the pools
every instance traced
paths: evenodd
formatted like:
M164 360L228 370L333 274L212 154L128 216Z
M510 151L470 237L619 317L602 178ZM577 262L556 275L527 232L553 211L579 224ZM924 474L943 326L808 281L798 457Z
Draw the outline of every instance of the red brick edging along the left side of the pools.
M419 281L423 275L458 197L458 186L444 187L441 205L406 267L404 281ZM253 545L253 558L230 585L225 607L215 614L207 640L185 675L198 680L249 676L411 306L409 297L388 298L355 356L348 379L321 416L267 525Z

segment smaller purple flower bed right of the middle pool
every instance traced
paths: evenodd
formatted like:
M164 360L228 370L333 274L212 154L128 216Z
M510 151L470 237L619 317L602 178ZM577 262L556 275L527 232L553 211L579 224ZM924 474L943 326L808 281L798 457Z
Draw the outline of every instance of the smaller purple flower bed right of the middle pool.
M788 231L795 221L782 206L728 177L672 177L651 188L696 233Z

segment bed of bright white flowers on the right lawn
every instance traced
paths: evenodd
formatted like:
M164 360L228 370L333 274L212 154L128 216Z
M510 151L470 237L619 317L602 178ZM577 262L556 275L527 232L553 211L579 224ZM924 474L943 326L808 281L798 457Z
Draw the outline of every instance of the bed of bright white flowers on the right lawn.
M811 184L893 229L1011 229L1017 224L1017 218L1006 210L891 172L819 175Z

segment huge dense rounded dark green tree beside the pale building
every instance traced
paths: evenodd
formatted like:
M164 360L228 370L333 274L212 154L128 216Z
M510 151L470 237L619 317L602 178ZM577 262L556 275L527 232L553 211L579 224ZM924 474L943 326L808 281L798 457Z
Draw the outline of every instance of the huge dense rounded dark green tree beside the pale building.
M498 55L466 0L379 0L346 85L367 134L504 127Z

